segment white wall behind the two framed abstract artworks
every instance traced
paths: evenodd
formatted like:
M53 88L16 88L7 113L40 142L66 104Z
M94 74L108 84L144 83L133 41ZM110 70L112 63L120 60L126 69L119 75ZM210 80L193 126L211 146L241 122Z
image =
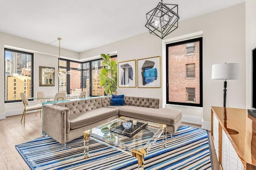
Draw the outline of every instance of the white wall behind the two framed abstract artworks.
M118 62L133 59L161 56L161 39L148 33L143 33L108 45L80 53L80 59L93 57L102 53L117 51ZM118 88L118 94L127 96L143 96L151 98L162 98L161 88ZM161 104L162 106L162 104Z

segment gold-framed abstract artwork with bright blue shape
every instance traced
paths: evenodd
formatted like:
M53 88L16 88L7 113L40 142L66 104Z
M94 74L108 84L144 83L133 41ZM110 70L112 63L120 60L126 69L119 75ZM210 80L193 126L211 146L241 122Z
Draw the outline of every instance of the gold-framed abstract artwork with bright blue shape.
M138 88L161 88L160 56L137 60Z

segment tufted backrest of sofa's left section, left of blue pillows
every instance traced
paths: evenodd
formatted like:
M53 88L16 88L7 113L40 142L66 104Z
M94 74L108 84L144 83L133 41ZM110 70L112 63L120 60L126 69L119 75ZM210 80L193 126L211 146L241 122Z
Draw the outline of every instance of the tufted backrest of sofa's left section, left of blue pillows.
M68 102L55 103L57 106L66 107L70 110L70 115L81 113L102 107L101 98L90 98L85 100L73 100Z

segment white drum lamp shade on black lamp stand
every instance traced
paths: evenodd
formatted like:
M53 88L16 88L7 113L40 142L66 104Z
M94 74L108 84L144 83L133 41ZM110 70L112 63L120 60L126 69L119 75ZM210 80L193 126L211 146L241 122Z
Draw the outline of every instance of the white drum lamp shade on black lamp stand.
M238 79L239 63L222 63L212 65L212 79Z

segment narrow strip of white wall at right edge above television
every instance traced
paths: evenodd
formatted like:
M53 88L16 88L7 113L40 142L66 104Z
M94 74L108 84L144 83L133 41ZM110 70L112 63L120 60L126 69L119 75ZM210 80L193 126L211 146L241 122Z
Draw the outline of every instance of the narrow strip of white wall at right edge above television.
M246 0L246 108L252 107L252 49L256 47L256 1Z

